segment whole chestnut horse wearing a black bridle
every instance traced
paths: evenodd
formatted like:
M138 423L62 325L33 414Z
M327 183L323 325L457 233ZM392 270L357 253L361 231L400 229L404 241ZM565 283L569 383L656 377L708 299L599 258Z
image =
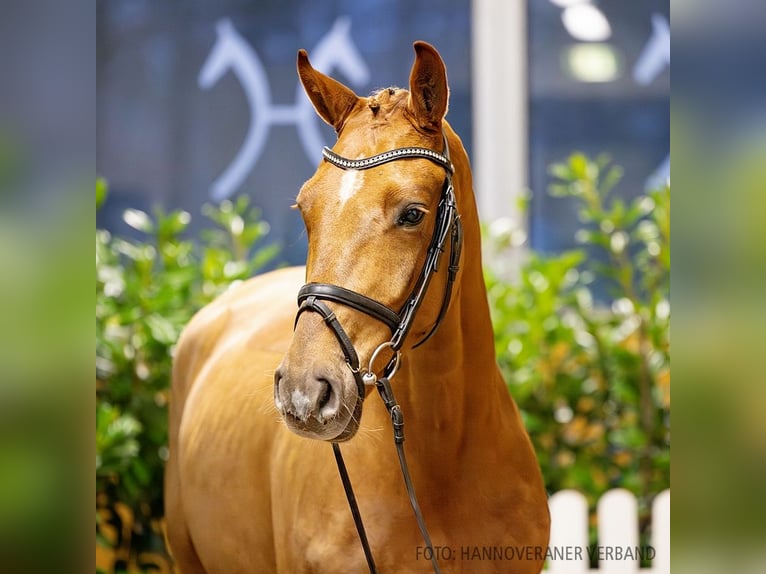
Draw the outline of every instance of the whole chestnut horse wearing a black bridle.
M341 447L380 572L542 569L546 493L496 363L469 159L444 62L414 48L409 89L368 97L298 53L338 137L296 198L305 267L228 290L175 349L166 535L184 574L367 571ZM383 383L430 544L370 396Z

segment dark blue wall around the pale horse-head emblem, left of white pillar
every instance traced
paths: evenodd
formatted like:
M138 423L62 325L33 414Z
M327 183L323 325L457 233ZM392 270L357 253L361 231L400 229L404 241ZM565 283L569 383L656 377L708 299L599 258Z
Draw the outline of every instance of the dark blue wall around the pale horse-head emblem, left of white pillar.
M97 6L98 170L110 185L99 226L129 233L120 220L123 209L158 204L188 210L198 228L200 206L211 200L211 184L237 154L251 121L234 74L209 89L198 84L216 42L216 23L224 18L263 63L272 103L280 105L296 100L297 50L311 55L338 17L350 19L351 39L369 69L369 81L353 86L360 95L406 86L412 42L431 42L447 64L448 117L470 145L468 0L110 0ZM349 83L340 72L334 75ZM333 131L322 125L321 133L323 143L331 144ZM289 206L315 161L294 125L274 125L235 192L249 194L263 208L271 238L291 263L304 260L305 238Z

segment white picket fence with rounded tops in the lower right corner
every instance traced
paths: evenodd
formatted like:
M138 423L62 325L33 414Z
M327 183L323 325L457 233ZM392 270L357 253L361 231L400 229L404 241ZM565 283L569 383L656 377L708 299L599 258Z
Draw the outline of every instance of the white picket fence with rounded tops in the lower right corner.
M610 490L598 501L598 545L588 544L588 504L574 490L551 496L550 559L547 574L670 574L670 490L652 504L649 546L639 546L638 502L623 489ZM579 550L578 550L579 549ZM590 554L598 556L598 569L590 567ZM640 568L641 554L651 558Z

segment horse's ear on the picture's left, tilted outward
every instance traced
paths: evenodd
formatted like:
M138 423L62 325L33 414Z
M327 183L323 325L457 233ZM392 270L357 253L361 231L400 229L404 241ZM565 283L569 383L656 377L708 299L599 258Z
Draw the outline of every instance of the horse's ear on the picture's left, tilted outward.
M340 132L359 97L337 80L315 70L306 50L298 50L298 77L317 113Z

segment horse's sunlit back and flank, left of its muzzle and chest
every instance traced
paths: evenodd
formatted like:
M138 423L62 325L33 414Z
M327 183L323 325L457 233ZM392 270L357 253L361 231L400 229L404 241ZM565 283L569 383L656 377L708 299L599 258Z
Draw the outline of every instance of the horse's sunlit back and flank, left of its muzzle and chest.
M266 486L280 425L266 381L292 336L303 280L303 269L291 268L240 283L197 312L179 338L165 492L168 539L189 572L202 572L198 556L226 572L274 567Z

